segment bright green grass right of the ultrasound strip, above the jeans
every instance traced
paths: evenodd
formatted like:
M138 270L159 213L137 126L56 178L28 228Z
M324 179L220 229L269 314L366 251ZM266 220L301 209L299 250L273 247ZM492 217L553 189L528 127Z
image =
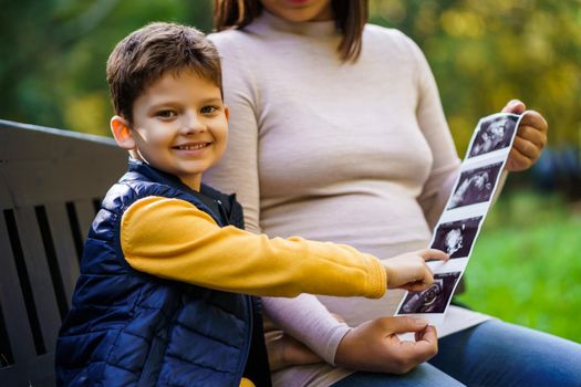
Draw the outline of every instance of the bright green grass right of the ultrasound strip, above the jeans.
M558 197L497 202L465 278L469 307L581 343L581 213Z

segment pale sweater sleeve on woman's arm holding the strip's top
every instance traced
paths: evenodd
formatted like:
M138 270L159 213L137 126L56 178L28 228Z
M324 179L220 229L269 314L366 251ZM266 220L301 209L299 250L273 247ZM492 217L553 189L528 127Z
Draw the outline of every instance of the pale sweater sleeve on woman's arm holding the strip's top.
M434 161L418 202L429 224L434 227L444 210L459 171L460 160L454 146L438 88L429 64L419 48L406 38L415 57L418 102L417 123L432 149Z

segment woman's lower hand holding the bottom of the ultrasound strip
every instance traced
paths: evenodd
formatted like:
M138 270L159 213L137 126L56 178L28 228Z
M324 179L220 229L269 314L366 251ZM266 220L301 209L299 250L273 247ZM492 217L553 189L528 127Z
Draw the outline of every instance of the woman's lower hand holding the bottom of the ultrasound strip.
M415 332L416 342L398 333ZM381 317L351 330L339 343L335 364L375 373L405 374L438 352L436 330L424 320Z

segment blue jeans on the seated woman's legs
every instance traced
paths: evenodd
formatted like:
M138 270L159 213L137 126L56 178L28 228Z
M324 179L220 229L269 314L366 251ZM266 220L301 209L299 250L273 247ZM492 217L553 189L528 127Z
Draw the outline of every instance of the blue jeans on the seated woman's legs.
M522 326L488 321L438 348L406 375L355 373L333 386L581 386L581 344Z

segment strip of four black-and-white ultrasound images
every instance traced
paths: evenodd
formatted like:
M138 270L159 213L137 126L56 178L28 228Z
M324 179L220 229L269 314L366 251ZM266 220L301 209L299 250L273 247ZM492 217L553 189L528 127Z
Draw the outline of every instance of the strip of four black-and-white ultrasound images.
M396 314L418 314L435 325L444 322L452 294L466 270L522 117L498 113L478 122L463 160L460 176L438 220L430 245L447 252L450 261L430 262L435 272L434 283L422 292L408 292ZM466 260L461 260L464 258Z

